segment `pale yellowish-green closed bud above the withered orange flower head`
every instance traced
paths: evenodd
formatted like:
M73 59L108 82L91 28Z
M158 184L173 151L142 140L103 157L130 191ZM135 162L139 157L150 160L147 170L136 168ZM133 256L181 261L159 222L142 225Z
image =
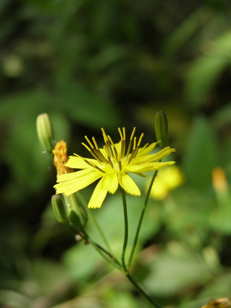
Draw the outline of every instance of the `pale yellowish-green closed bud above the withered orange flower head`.
M54 138L51 120L47 113L42 113L38 115L36 120L36 127L40 144L45 151L51 153L53 149Z

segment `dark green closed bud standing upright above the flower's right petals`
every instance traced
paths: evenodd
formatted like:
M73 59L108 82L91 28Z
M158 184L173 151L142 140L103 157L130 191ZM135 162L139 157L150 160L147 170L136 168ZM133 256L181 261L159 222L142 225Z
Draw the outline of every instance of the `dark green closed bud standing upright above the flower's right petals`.
M160 147L165 148L168 145L168 119L164 111L156 112L155 131Z

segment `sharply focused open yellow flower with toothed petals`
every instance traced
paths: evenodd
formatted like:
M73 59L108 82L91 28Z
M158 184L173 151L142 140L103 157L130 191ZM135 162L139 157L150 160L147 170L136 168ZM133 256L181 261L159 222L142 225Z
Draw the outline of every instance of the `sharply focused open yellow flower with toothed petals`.
M83 158L77 154L70 156L65 166L82 170L60 175L57 180L59 184L54 186L56 194L64 193L64 195L68 196L101 178L88 203L88 208L100 208L107 192L115 193L119 184L127 193L140 196L140 189L132 178L127 175L127 172L144 176L142 172L154 171L175 163L174 161L157 162L168 156L171 152L175 152L175 149L169 147L162 149L156 154L148 155L157 142L150 145L145 144L143 148L140 148L140 142L144 134L141 134L136 144L136 137L134 137L135 128L132 131L126 151L125 128L122 131L118 128L118 131L121 140L119 143L114 144L111 137L106 135L102 128L105 142L103 148L98 147L94 137L92 137L93 142L91 142L85 136L90 147L84 143L82 144L88 149L94 159ZM130 153L131 149L132 152Z

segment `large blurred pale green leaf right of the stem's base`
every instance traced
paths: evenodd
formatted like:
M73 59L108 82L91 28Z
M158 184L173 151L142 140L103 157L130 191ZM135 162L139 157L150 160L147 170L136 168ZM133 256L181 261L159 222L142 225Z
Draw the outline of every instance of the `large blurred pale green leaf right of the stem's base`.
M174 295L212 278L206 263L183 248L179 254L164 251L149 264L144 286L155 296Z

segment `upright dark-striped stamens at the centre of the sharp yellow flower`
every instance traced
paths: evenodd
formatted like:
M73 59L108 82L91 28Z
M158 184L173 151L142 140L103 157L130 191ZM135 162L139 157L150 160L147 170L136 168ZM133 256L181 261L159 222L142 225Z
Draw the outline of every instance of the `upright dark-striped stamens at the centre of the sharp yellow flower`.
M88 144L90 145L90 148L82 143L85 148L87 148L87 150L91 153L91 155L103 166L103 165L110 165L112 169L115 169L116 172L118 173L119 171L122 171L122 165L124 163L126 164L130 164L131 161L136 157L139 147L140 147L140 142L144 136L144 133L141 134L140 139L136 145L136 137L133 136L135 134L136 128L133 128L130 140L129 140L129 144L128 144L128 149L127 152L125 154L125 149L126 149L126 143L125 143L125 128L123 127L122 131L120 128L118 128L118 131L120 133L120 139L121 139L121 148L120 151L118 152L116 150L115 144L112 141L111 137L109 135L106 135L105 131L103 128L101 128L102 132L103 132L103 139L105 142L105 145L103 146L104 151L106 152L106 156L107 158L102 154L102 152L100 151L95 138L92 137L92 141L93 144L91 143L91 141L87 138L87 136L85 136L85 139L87 140ZM133 147L132 147L132 143L133 143ZM132 148L132 153L130 154ZM77 155L77 154L75 154ZM78 157L81 157L79 155L77 155ZM82 157L81 157L82 158ZM93 164L92 162L86 160L83 158L83 160L89 164L91 167L98 169L99 171L106 173L103 169L99 168L98 166L96 166L95 164Z

